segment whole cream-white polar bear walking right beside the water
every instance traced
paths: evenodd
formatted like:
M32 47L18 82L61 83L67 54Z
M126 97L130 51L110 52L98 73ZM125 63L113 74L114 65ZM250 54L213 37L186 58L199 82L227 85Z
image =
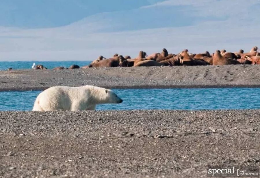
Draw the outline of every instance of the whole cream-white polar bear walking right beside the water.
M81 87L53 86L37 96L33 111L95 110L97 104L122 102L123 100L112 90L106 88L91 85Z

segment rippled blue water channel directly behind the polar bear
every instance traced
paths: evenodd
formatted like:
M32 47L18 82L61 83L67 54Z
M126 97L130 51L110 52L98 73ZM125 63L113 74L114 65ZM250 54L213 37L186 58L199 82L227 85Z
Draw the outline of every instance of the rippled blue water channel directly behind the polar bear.
M260 88L114 89L124 101L107 109L260 109ZM0 111L32 109L41 91L0 92Z

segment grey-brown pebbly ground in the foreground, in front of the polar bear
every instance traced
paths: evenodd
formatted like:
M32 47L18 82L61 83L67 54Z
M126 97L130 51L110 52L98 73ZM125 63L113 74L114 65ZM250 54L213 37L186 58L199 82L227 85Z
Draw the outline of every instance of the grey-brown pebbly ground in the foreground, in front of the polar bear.
M0 177L206 177L208 165L259 166L259 121L259 110L0 112Z

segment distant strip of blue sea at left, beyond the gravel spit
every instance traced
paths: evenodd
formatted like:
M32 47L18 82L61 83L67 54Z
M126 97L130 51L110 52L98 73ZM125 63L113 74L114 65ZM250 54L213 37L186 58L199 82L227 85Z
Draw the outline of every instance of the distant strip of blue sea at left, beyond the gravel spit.
M47 69L53 69L55 67L70 67L73 64L79 65L80 67L89 65L91 61L3 61L0 62L0 71L7 70L8 68L13 68L13 70L18 69L31 69L33 63L36 65L41 64Z

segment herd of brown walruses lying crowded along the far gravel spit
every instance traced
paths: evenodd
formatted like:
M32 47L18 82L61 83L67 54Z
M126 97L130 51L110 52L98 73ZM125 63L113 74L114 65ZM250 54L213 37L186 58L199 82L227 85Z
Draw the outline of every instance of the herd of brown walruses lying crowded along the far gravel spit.
M227 52L226 50L216 50L215 53L210 54L208 51L205 53L192 54L189 50L185 49L178 54L168 53L163 48L161 53L153 53L147 55L146 52L140 51L136 58L130 56L122 56L114 54L111 58L99 56L87 66L81 67L82 69L90 67L140 67L140 66L181 66L181 65L230 65L230 64L260 64L260 52L258 47L253 47L249 52L244 53L244 50L238 52ZM38 65L34 69L44 69L43 66ZM79 69L78 65L72 65L69 68L55 67L53 70L62 69Z

